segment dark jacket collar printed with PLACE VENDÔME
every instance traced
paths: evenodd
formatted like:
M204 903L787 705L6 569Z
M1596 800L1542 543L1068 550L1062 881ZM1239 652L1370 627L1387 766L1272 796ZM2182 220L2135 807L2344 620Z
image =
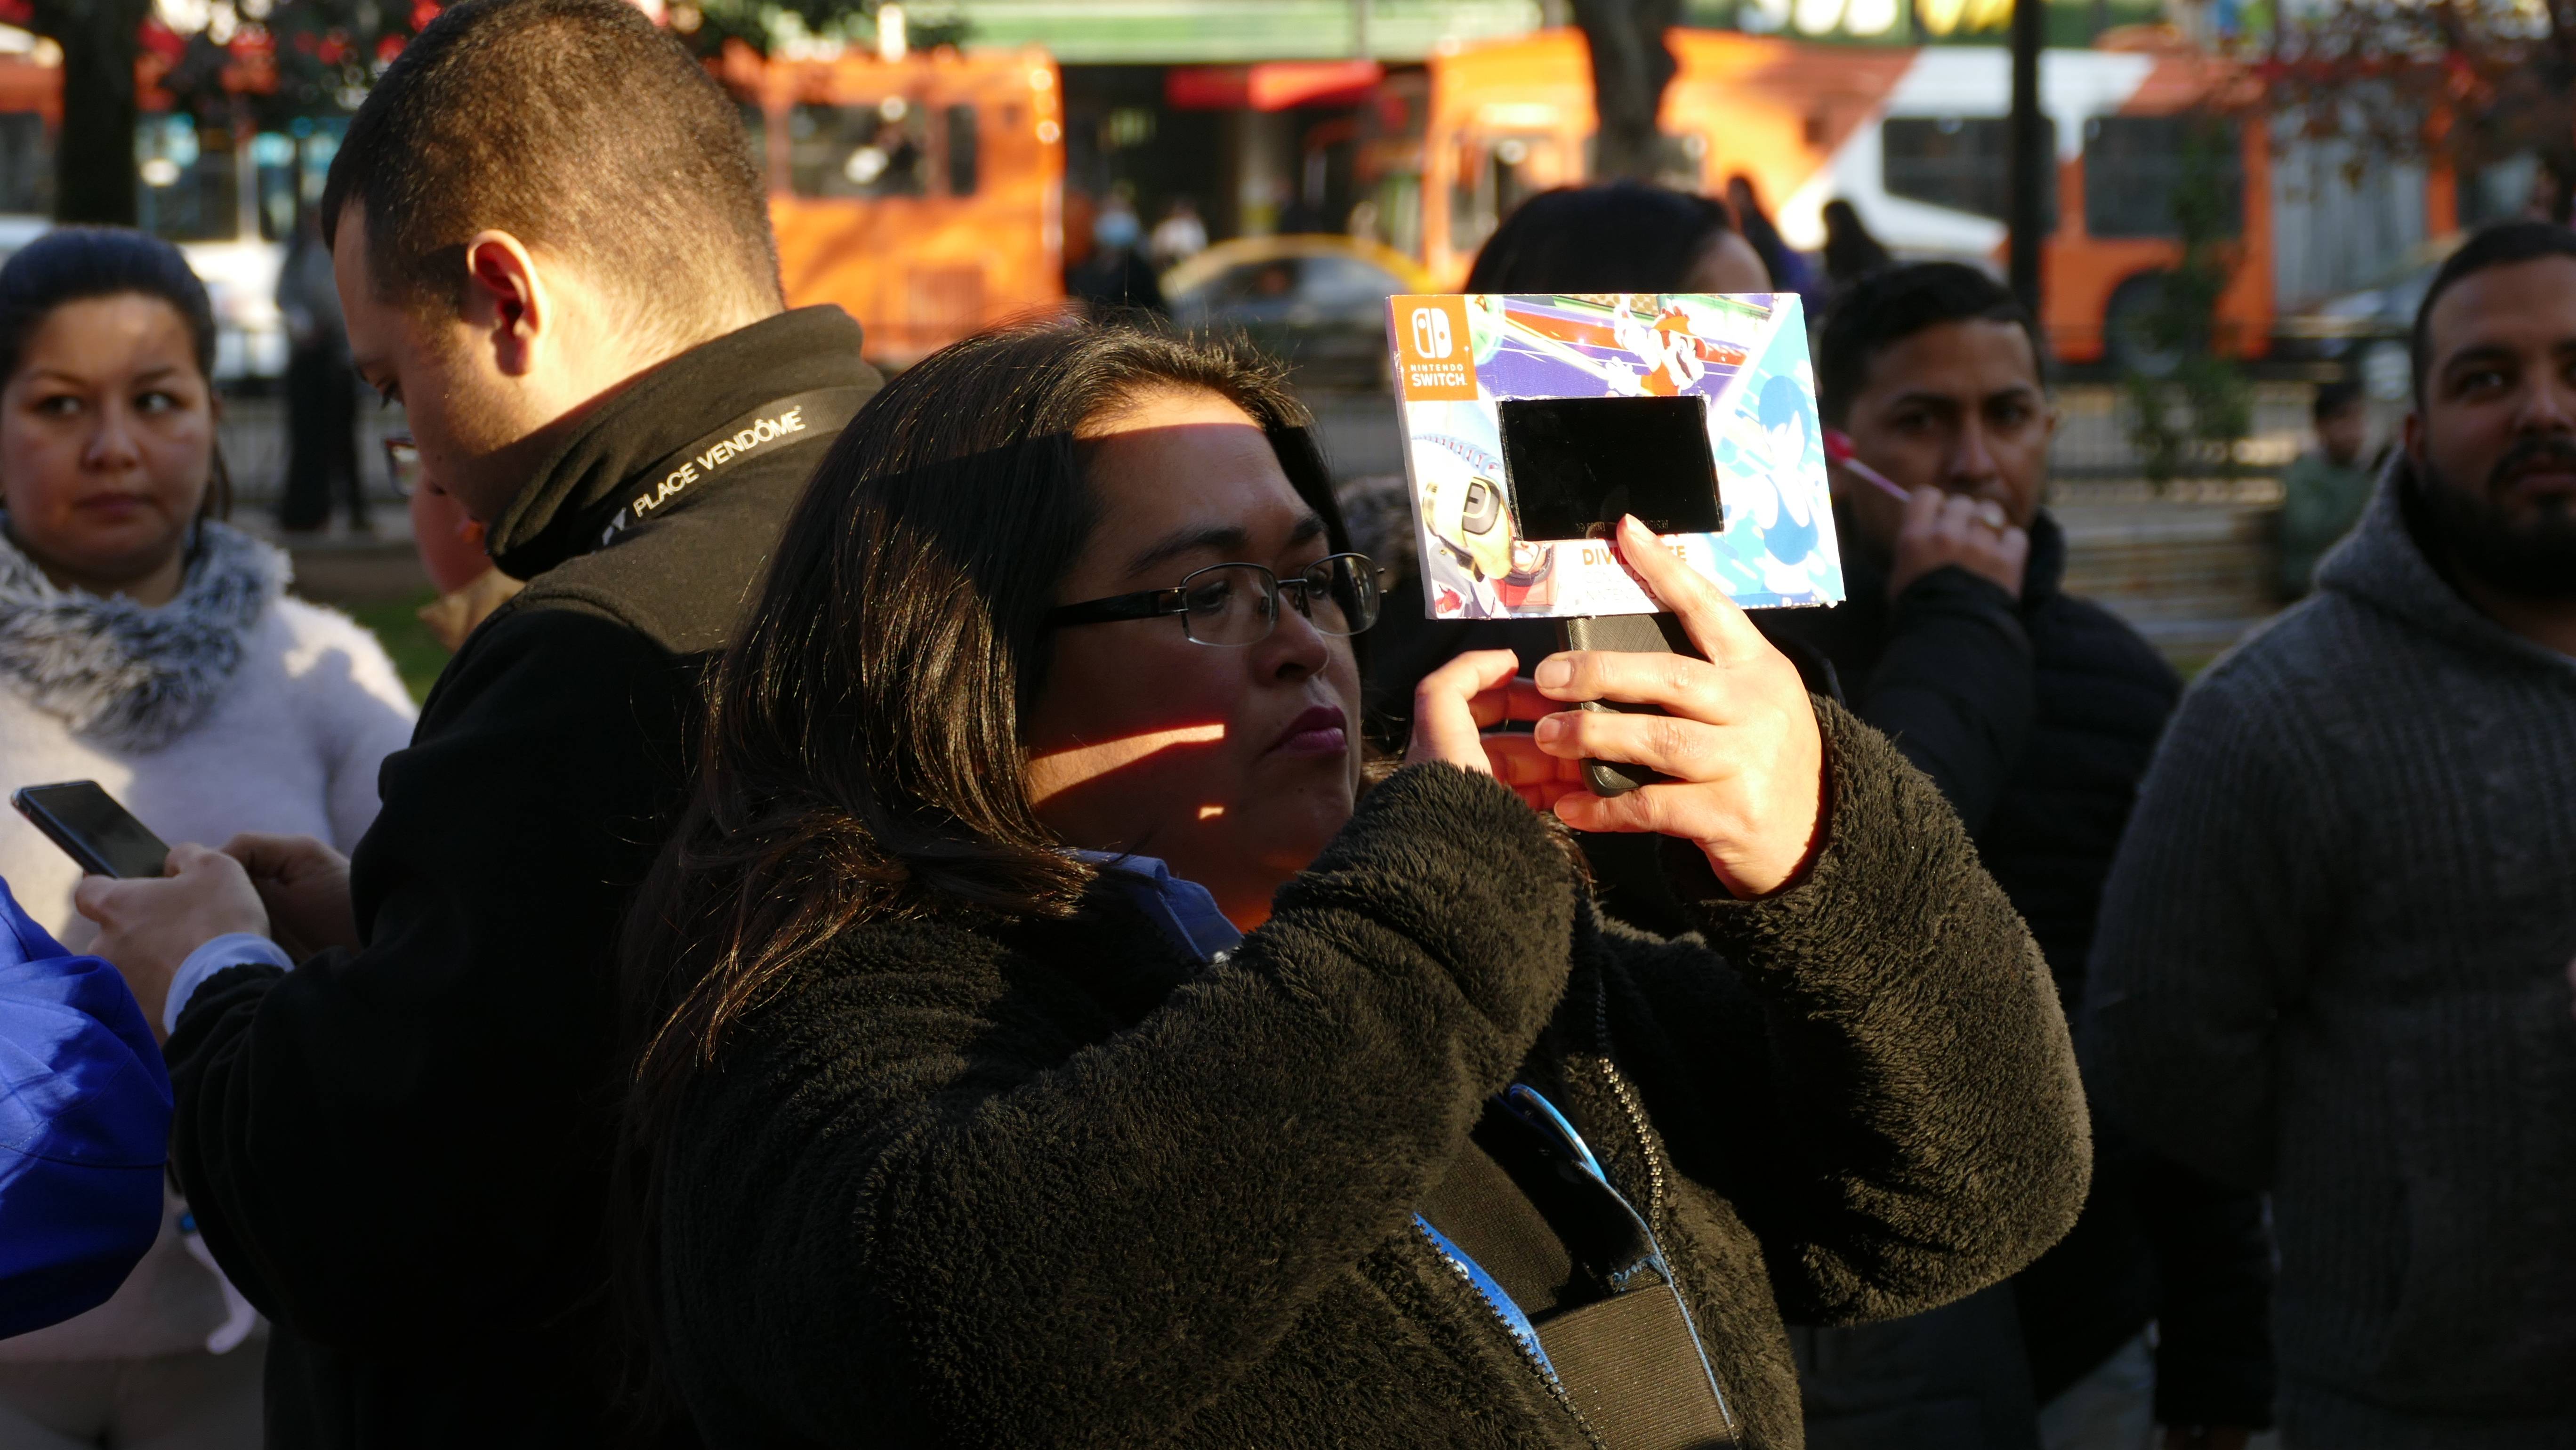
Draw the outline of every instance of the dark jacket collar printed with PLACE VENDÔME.
M837 306L762 317L670 358L600 404L536 466L489 551L502 574L533 579L598 549L626 482L744 412L809 389L873 386L860 330Z

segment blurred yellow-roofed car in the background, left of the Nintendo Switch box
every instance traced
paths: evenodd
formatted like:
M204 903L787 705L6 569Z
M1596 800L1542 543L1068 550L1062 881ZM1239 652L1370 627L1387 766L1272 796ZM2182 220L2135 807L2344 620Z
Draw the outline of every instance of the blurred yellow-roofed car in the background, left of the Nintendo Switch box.
M1386 299L1404 291L1432 291L1422 268L1334 234L1239 237L1162 276L1177 325L1242 330L1319 389L1386 384Z

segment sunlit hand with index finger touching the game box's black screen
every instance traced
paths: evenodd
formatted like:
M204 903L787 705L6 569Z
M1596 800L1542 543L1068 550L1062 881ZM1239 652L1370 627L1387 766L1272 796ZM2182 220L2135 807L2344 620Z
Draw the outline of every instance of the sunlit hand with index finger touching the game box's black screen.
M1589 757L1672 778L1625 796L1558 793L1553 809L1584 832L1690 840L1728 891L1770 896L1806 871L1824 837L1824 737L1806 683L1734 600L1633 515L1618 525L1618 549L1708 659L1607 649L1543 659L1535 690L1546 701L1664 713L1551 713L1538 721L1535 749L1574 770Z

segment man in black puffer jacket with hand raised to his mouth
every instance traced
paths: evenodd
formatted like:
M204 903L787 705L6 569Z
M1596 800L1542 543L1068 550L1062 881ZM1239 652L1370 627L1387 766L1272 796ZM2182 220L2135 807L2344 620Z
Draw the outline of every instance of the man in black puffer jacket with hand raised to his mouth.
M2038 507L2053 417L2009 291L1947 263L1873 276L1824 325L1819 391L1911 500L1837 479L1850 603L1759 623L1832 662L1852 708L1958 806L2074 1015L2102 881L2182 683L2058 587L2066 536ZM2084 1218L2009 1290L1801 1339L1811 1445L2081 1447L2087 1422L2143 1435L2148 1393L2184 1442L2244 1445L2269 1424L2259 1200L2099 1113L2094 1144ZM2035 1406L2050 1409L2035 1422Z

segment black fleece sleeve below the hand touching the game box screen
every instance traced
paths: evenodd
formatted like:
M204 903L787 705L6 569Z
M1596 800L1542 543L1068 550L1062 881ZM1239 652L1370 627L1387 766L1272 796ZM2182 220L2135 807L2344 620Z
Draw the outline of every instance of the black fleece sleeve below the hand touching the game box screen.
M1710 948L1605 937L1613 1035L1674 1167L1759 1234L1798 1321L1914 1313L2074 1223L2092 1128L2048 963L1940 791L1819 701L1806 878L1739 901L1667 850Z

